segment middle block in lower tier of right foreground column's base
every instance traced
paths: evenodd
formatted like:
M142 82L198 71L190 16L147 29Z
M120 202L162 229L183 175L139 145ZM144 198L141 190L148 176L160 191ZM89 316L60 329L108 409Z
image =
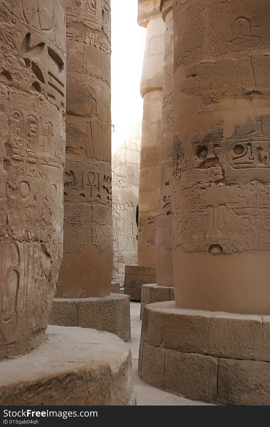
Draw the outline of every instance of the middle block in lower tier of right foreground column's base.
M167 350L164 390L189 399L216 401L217 371L215 357Z

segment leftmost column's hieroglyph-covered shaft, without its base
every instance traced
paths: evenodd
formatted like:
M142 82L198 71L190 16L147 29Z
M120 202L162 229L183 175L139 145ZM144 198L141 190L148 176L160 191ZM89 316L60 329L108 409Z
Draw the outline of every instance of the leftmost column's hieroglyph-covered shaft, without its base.
M0 1L0 359L44 341L62 258L64 4Z

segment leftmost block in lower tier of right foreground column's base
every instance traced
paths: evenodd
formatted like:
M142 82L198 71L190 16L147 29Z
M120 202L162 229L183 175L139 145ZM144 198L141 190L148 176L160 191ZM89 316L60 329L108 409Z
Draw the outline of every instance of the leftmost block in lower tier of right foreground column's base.
M141 356L141 378L158 389L164 387L165 348L144 342Z

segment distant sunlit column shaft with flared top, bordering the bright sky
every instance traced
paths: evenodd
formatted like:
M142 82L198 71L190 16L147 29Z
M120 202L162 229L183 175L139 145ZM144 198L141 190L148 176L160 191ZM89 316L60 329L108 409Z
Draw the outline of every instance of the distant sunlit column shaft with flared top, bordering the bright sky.
M155 266L157 191L161 143L161 109L165 23L157 1L139 0L138 23L145 26L142 67L142 144L139 175L138 264Z

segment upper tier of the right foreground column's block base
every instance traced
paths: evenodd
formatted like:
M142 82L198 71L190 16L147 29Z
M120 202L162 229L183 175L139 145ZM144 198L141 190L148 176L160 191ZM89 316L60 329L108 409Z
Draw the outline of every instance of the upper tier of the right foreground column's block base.
M144 308L141 336L177 351L270 361L269 326L269 316L263 321L262 316L179 309L168 301Z

